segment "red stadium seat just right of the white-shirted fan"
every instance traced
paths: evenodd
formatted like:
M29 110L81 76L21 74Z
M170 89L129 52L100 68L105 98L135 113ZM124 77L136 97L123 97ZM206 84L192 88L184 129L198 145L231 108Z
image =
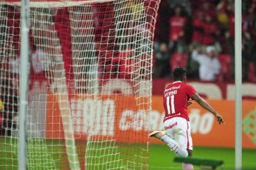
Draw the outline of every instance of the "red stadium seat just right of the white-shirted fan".
M221 73L218 75L219 81L231 81L232 57L230 54L220 54L218 56L221 63Z

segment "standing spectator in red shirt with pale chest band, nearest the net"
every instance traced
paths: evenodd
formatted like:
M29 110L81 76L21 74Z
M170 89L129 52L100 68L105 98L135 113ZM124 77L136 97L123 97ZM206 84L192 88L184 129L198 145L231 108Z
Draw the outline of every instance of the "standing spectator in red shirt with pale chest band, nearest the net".
M172 16L169 20L169 47L172 53L175 52L177 49L183 50L183 48L185 48L184 30L185 26L187 25L187 18L182 15L182 7L176 6L174 12L174 16Z

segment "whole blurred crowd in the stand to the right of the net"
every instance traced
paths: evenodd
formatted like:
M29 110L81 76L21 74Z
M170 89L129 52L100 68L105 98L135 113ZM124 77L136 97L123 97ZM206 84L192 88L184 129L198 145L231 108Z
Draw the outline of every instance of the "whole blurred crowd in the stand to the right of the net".
M162 0L154 37L154 77L187 68L190 79L233 81L234 0ZM256 79L256 0L242 1L242 79Z

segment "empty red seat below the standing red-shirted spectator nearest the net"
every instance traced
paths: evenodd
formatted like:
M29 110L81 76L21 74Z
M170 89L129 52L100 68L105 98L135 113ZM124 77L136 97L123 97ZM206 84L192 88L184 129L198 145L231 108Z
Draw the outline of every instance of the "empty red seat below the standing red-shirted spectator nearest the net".
M186 67L187 65L187 53L178 53L175 52L171 59L170 59L170 67L173 69L175 69L175 67Z

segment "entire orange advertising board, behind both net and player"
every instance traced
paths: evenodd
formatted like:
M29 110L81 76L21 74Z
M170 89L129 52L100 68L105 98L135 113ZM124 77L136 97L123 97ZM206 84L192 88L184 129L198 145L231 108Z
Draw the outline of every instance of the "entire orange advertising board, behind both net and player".
M65 122L72 122L73 126L69 132L73 131L74 138L78 140L86 140L88 132L91 130L93 139L115 139L117 142L142 143L148 142L148 125L151 130L162 129L163 101L161 96L153 96L151 111L148 111L148 105L136 105L138 101L133 96L101 96L98 100L76 95L70 96L70 98L70 106L64 107L62 104L63 108L60 109L58 96L54 94L48 96L47 138L64 138L62 125L64 116L69 119L64 120ZM214 116L199 105L194 103L189 106L194 145L234 147L234 101L210 100L209 103L223 115L226 125L219 125ZM256 147L255 106L255 101L243 101L243 147L245 148ZM70 115L63 115L62 111L69 107L71 113L70 111L67 113ZM150 142L162 143L156 139L151 139Z

